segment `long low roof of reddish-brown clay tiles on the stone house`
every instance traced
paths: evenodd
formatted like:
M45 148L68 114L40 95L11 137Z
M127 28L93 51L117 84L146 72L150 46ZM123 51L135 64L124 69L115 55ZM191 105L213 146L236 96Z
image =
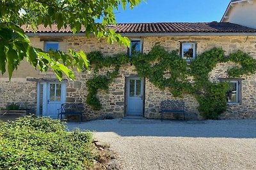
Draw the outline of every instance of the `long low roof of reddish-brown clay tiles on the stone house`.
M22 26L26 33L33 32L26 25ZM115 30L117 33L165 33L165 32L256 32L256 29L244 27L242 25L232 24L228 22L161 22L161 23L134 23L134 24L116 24L109 26L109 29ZM81 32L84 32L84 27ZM52 27L44 27L39 25L36 33L71 33L70 27L58 30L57 25Z

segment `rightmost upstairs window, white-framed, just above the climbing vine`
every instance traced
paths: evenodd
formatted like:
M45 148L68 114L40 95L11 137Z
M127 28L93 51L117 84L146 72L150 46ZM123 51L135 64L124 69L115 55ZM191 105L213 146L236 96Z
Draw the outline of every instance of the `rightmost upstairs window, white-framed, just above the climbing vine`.
M182 59L191 62L196 58L196 43L181 43L180 53Z

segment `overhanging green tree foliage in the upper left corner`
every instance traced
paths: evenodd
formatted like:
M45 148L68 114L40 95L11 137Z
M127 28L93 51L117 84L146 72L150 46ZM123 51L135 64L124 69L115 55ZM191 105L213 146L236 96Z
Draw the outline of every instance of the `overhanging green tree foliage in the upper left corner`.
M72 67L78 71L88 69L89 62L84 52L46 53L31 46L28 36L20 29L21 25L29 25L34 31L38 25L45 27L52 24L70 27L76 34L81 27L86 36L107 38L109 43L115 41L129 46L129 39L109 29L108 25L115 25L115 10L119 6L125 10L127 5L132 9L141 0L0 0L0 71L2 74L8 69L9 78L20 64L21 60L39 69L47 71L51 68L59 80L63 73L74 80ZM102 22L97 22L102 20Z

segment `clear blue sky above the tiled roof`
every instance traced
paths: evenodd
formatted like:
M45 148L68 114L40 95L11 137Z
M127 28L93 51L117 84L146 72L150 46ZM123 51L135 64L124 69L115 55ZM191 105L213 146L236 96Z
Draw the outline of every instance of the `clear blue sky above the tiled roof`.
M141 0L133 10L116 11L116 23L220 22L230 0Z

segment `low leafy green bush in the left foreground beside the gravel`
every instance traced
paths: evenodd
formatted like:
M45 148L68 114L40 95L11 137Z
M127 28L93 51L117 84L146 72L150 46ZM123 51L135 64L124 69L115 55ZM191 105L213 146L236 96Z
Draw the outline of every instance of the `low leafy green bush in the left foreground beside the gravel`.
M67 132L60 120L22 117L0 122L0 169L87 169L92 134Z

